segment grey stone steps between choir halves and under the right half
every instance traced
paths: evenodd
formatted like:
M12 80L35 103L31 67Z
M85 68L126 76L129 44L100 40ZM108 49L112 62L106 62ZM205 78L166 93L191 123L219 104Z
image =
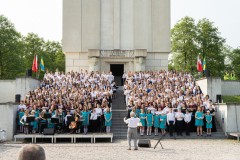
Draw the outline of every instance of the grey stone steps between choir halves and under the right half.
M126 104L124 102L123 89L120 86L115 93L113 98L112 106L112 127L111 132L113 133L114 139L126 139L127 138L127 125L123 122L123 118L127 116ZM192 132L191 136L175 136L170 137L167 133L164 138L174 138L174 139L223 139L226 138L219 122L216 121L217 132L213 132L211 137L207 137L206 133L204 136L197 136L196 132ZM147 136L146 133L144 136L138 136L139 139L159 139L160 136L154 136L154 131L152 131L151 136Z

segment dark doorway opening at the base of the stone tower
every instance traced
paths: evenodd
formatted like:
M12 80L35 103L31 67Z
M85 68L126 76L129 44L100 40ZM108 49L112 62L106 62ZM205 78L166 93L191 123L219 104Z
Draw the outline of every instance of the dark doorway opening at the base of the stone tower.
M123 85L122 75L124 72L124 64L110 64L110 71L114 75L117 85Z

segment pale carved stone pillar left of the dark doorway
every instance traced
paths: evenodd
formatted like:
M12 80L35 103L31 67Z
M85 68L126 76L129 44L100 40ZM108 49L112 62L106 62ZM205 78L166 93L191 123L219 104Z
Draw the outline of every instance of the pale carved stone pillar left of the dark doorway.
M100 50L89 49L88 50L88 70L89 71L100 71Z

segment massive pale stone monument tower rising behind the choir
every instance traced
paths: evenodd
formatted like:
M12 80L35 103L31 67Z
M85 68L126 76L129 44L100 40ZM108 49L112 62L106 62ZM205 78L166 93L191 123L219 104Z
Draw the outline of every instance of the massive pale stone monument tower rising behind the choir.
M63 0L66 71L167 70L170 0Z

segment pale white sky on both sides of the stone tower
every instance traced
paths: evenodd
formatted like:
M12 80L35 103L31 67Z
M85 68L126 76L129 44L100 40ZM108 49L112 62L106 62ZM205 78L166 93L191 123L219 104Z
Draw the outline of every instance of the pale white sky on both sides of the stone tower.
M181 18L208 18L226 43L240 47L240 0L171 0L171 27ZM0 0L0 15L23 35L38 34L45 40L62 39L62 0Z

